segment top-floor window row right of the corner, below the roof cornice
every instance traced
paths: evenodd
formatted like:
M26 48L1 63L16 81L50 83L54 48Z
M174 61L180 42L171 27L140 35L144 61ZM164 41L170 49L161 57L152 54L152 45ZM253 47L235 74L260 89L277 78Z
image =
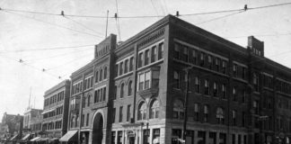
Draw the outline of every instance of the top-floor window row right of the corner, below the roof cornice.
M199 49L186 42L175 42L173 58L229 75L227 72L228 58L218 56L205 49ZM234 61L231 70L234 77L246 80L247 66Z

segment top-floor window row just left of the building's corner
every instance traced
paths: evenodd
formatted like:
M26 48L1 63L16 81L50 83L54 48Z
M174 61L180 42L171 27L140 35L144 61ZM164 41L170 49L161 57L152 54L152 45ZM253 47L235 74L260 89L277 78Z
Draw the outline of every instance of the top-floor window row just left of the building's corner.
M145 67L163 58L163 41L156 42L148 48L138 51L137 67Z

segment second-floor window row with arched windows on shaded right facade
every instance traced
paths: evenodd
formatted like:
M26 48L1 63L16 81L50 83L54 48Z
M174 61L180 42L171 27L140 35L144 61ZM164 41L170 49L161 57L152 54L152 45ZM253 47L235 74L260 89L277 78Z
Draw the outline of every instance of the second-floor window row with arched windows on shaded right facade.
M193 109L193 113L189 113L188 116L192 117L192 121L198 122L212 122L217 124L225 124L225 109L221 107L216 107L216 111L211 111L209 104L193 103L190 105ZM172 106L172 118L183 120L185 116L184 104L181 100L175 100ZM246 112L242 111L238 116L237 110L231 110L230 122L234 126L246 126L247 117ZM239 120L241 123L239 124Z

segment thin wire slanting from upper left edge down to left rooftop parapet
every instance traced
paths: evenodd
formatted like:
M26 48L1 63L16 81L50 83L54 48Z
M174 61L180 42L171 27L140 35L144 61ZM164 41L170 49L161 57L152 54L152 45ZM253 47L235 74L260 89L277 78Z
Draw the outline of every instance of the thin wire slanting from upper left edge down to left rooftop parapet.
M41 22L41 23L47 23L47 24L50 24L50 25L53 25L53 26L57 26L59 28L63 28L63 29L66 29L66 30L70 30L70 31L75 31L75 32L79 32L79 33L83 33L83 34L86 34L86 35L91 35L91 36L94 36L94 37L99 37L99 38L102 38L101 36L99 35L95 35L95 34L92 34L92 33L88 33L88 32L85 32L85 31L78 31L78 30L74 30L72 28L68 28L66 26L63 26L63 25L59 25L59 24L56 24L56 23L49 23L49 22L46 22L46 21L42 21L40 19L36 19L34 17L30 17L30 16L27 16L27 15L22 15L22 14L15 14L13 12L9 12L9 11L0 11L0 12L4 12L4 13L7 13L7 14L14 14L14 15L18 15L18 16L22 16L24 18L27 18L27 19L31 19L31 20L34 20L34 21L37 21L37 22Z

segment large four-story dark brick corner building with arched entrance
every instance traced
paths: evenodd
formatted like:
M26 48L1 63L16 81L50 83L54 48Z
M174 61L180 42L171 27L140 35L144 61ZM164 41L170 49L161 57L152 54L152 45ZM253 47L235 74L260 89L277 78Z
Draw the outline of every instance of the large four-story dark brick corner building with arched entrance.
M252 36L243 48L172 15L119 45L111 34L71 78L66 140L254 144L291 134L291 70Z

